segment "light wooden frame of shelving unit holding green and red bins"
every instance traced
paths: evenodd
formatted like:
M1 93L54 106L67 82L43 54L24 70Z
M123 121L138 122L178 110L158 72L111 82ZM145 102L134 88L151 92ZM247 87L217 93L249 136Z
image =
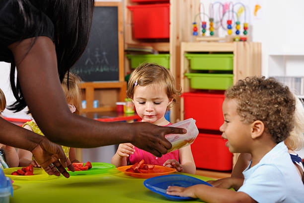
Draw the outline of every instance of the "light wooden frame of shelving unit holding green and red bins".
M182 42L180 56L180 84L182 93L195 92L190 87L190 80L184 76L190 72L189 60L184 57L186 53L204 52L233 53L233 83L248 76L261 76L261 43L258 42ZM180 102L180 119L184 119L184 101ZM233 166L238 154L233 154Z

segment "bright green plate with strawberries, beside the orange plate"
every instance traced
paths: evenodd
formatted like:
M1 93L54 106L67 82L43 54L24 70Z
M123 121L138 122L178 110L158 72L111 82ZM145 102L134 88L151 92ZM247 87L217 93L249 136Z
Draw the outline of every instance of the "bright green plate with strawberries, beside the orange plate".
M68 171L71 176L74 175L95 175L95 174L104 174L108 173L110 169L114 169L115 165L108 164L108 163L99 163L99 162L93 162L92 168L87 171Z

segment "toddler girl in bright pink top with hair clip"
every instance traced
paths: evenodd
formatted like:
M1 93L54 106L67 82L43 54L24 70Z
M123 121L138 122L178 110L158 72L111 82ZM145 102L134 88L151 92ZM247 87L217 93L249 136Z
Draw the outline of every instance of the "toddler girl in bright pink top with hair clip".
M157 64L143 64L136 68L129 79L127 96L135 104L142 122L167 126L171 123L164 117L169 105L179 92L168 69ZM131 143L120 144L112 157L116 167L133 165L144 159L145 164L175 168L178 172L195 174L195 164L190 145L169 152L162 157L141 150Z

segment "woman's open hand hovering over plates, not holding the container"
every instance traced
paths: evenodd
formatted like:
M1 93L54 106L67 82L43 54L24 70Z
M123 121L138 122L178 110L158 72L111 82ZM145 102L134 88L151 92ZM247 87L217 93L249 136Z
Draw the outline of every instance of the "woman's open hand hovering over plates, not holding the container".
M60 176L62 174L66 178L69 178L70 174L65 168L68 167L71 171L75 171L74 166L66 157L62 147L49 141L47 138L43 138L31 152L37 163L49 175Z

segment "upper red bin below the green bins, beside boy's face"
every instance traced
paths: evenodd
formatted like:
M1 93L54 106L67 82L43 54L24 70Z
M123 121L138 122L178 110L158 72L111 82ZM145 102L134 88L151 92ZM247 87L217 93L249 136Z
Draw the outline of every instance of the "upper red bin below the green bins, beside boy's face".
M199 129L219 130L224 122L224 94L183 93L184 117L196 120Z

